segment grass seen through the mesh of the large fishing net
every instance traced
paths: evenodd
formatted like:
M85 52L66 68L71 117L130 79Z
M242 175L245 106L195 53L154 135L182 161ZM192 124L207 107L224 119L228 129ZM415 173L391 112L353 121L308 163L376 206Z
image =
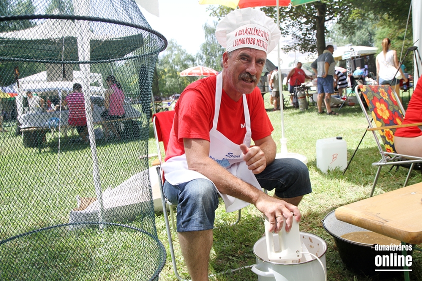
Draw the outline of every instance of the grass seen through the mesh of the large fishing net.
M143 121L138 135L96 141L103 192L148 167L149 126ZM74 133L60 142L57 133L55 138L48 133L40 149L24 147L22 137L14 135L15 124L6 125L8 132L0 134L0 280L149 280L165 256L157 239L148 174L139 173L142 177L125 185L123 195L136 194L129 199L141 214L118 222L130 227L48 228L69 223L76 196L96 196L90 146ZM42 228L48 229L37 231Z

